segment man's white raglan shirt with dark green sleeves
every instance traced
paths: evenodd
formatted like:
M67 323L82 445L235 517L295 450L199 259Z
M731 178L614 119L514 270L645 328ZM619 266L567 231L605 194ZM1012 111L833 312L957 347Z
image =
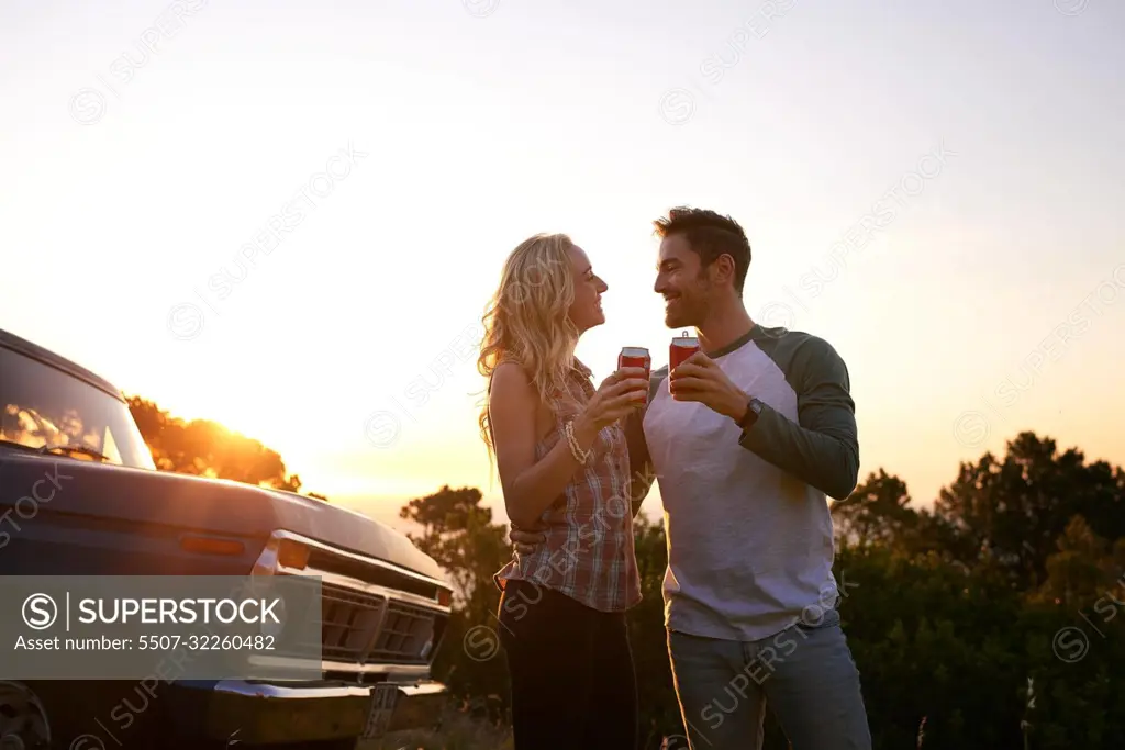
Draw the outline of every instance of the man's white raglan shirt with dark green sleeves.
M742 432L652 373L642 444L664 499L665 623L753 641L837 600L828 496L855 487L855 405L844 361L810 334L755 326L709 355L765 407Z

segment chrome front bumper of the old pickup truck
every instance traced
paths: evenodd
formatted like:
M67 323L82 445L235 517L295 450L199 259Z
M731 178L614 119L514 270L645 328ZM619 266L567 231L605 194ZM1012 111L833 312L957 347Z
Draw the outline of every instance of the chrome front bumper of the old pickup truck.
M386 711L382 692L394 685L394 706L372 722L376 701ZM371 737L371 729L393 732L432 726L438 722L448 688L441 683L352 685L305 683L281 685L222 680L209 686L180 684L192 710L177 712L192 733L212 740L244 743L308 742ZM190 717L190 719L189 719ZM377 735L377 734L376 734Z

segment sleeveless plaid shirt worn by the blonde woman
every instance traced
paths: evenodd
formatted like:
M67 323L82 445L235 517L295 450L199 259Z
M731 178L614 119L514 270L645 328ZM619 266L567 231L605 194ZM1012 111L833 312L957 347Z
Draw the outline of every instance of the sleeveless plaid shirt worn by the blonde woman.
M536 445L541 460L565 427L593 397L591 371L575 360L568 386L579 404L564 406L555 430ZM622 612L640 602L629 495L629 452L620 423L602 430L584 470L575 471L558 499L540 516L546 543L513 559L494 577L503 589L512 579L530 580L601 612Z

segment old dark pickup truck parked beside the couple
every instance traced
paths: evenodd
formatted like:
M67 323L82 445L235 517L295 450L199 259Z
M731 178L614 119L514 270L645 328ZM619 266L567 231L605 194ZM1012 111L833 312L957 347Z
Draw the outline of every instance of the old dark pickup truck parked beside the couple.
M403 534L315 498L158 471L111 383L0 331L0 575L316 576L312 681L15 680L0 750L308 748L431 725L452 589ZM96 676L97 677L97 676Z

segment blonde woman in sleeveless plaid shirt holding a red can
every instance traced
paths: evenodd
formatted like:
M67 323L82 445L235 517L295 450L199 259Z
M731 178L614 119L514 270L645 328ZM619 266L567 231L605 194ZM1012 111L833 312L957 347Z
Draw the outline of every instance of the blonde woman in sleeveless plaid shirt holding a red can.
M496 573L516 750L637 743L624 612L640 580L620 423L648 381L621 369L595 391L575 359L578 337L605 323L605 290L566 235L536 235L508 256L484 317L480 434L508 518L547 539Z

